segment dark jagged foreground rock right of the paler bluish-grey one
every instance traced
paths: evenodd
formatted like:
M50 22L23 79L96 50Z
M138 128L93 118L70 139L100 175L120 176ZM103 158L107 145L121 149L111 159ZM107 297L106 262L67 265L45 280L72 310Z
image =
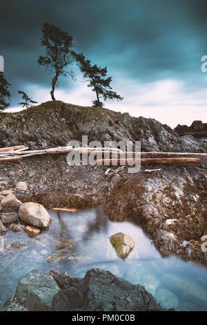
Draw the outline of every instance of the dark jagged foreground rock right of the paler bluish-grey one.
M63 289L54 297L53 310L164 310L143 286L134 286L108 271L89 270L82 281L69 276L67 279L65 274L54 278Z

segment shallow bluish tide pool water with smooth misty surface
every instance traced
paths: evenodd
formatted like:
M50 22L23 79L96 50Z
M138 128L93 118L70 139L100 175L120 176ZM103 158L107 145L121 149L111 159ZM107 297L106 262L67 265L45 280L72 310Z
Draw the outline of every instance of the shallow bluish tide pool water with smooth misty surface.
M14 293L21 275L34 268L84 277L87 270L97 267L143 285L166 308L207 310L207 269L177 257L162 258L138 226L112 223L93 209L58 214L50 211L50 216L50 229L39 236L29 238L24 232L10 231L4 236L4 248L17 241L26 246L0 252L0 306ZM108 239L117 232L135 241L125 260L117 257ZM56 257L73 254L75 258L46 261L53 253Z

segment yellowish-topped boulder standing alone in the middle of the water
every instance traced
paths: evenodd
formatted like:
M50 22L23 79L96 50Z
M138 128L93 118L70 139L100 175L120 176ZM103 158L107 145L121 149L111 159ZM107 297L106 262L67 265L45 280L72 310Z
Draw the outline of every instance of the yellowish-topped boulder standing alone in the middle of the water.
M123 232L110 236L110 242L121 259L126 259L130 251L135 247L135 243L131 237L127 234L123 234Z

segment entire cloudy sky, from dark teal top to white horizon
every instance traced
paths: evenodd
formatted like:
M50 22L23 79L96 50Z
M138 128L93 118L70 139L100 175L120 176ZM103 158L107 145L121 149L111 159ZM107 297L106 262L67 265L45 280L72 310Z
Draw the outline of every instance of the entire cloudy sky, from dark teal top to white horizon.
M73 37L74 50L92 64L107 66L112 88L124 96L104 107L155 118L170 127L207 122L206 0L1 0L0 55L10 87L10 110L21 109L18 90L38 104L51 100L52 75L44 55L42 25ZM76 80L61 77L57 100L91 106L95 93L77 66Z

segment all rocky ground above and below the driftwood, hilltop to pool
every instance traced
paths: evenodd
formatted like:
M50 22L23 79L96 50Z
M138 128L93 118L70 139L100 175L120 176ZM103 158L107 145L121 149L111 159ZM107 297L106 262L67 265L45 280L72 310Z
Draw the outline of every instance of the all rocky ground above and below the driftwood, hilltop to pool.
M96 126L96 127L95 127ZM66 145L68 140L141 140L153 151L207 152L192 136L177 136L156 120L132 118L107 109L47 102L0 120L2 146L24 144L30 149ZM115 169L117 167L112 167ZM98 207L111 221L132 221L150 236L163 256L176 254L207 265L201 250L206 233L207 164L156 165L161 171L106 176L108 166L68 166L66 155L26 158L1 163L0 186L22 202L52 207ZM27 189L18 189L25 182Z

